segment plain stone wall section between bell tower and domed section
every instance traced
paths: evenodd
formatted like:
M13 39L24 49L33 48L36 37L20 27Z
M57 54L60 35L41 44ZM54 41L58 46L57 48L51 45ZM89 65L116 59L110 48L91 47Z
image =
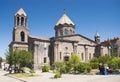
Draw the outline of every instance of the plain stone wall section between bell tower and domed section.
M49 65L49 45L48 42L34 41L34 68L38 69L44 65Z

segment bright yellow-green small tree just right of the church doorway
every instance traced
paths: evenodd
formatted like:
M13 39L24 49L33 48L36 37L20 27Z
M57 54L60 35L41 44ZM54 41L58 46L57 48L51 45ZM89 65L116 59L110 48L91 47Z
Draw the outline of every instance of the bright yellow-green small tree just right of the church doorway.
M74 72L76 72L77 66L80 63L79 55L72 54L71 57L70 57L69 62L72 64Z

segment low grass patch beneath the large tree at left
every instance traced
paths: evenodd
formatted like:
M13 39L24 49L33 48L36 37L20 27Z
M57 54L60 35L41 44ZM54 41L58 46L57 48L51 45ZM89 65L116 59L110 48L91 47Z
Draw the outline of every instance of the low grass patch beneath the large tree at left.
M27 77L35 77L35 76L39 76L38 74L35 73L14 73L14 74L8 74L10 76L14 76L17 78L27 78Z

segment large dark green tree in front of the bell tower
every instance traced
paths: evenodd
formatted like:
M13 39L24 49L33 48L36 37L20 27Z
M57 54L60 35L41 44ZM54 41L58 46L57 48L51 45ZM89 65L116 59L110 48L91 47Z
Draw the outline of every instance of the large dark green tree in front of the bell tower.
M9 50L6 53L6 60L11 65L21 65L25 67L28 64L32 64L33 55L29 51L25 50Z

